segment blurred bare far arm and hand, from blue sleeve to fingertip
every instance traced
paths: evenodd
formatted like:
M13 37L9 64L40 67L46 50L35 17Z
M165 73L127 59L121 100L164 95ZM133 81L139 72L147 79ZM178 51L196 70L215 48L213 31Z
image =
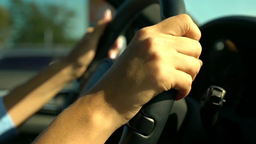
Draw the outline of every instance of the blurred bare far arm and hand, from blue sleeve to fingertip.
M67 82L84 73L95 55L98 40L110 20L111 12L106 11L95 30L88 28L85 36L64 60L49 66L4 97L8 114L16 126L40 110Z

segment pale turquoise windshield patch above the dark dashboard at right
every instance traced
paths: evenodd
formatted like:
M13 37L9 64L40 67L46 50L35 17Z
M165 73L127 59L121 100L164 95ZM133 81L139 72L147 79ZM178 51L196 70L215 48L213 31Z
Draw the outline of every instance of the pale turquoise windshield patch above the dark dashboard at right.
M184 3L199 26L224 16L256 16L256 0L184 0Z

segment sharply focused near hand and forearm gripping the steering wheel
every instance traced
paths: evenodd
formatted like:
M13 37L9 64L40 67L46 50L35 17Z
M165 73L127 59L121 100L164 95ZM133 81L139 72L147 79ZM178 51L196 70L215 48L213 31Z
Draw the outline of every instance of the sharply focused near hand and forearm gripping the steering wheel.
M202 61L200 30L186 15L142 28L114 65L83 97L64 110L36 144L103 144L154 96L191 89Z

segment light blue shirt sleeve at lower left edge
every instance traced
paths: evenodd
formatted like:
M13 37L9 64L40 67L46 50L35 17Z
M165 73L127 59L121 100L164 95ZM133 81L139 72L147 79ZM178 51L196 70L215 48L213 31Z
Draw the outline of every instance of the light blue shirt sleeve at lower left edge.
M7 113L2 97L0 97L0 143L18 134L12 118Z

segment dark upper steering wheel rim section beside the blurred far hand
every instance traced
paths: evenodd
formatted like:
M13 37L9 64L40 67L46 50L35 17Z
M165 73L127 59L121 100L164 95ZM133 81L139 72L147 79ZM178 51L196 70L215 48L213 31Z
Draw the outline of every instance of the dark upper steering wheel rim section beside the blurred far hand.
M117 9L113 20L106 27L98 42L98 48L89 68L107 57L108 51L118 36L140 15L140 12L158 0L125 0ZM132 10L131 10L132 9ZM128 12L129 11L129 12Z

